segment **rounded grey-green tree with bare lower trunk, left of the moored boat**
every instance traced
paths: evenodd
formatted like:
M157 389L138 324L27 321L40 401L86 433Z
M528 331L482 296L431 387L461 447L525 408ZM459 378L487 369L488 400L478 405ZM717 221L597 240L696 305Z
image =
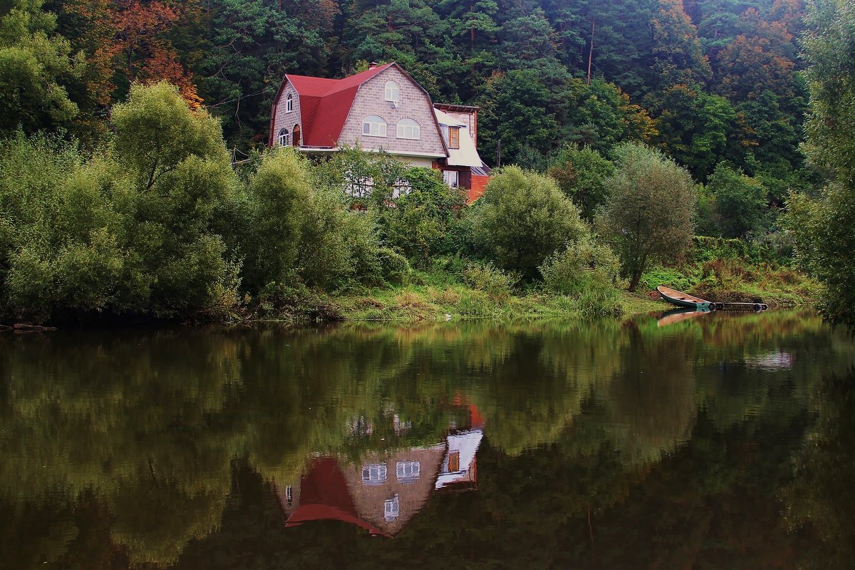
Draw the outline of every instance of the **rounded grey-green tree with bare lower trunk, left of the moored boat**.
M681 256L687 249L697 192L687 170L658 150L622 144L616 156L599 225L621 258L629 291L635 291L651 261Z

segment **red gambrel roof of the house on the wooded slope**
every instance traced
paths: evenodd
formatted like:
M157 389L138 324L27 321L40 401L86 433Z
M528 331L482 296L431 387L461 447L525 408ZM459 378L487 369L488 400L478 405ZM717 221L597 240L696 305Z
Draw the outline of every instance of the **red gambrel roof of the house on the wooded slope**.
M309 75L286 74L279 92L274 99L275 106L279 104L286 83L294 85L300 96L300 112L303 118L302 146L335 146L345 126L347 115L351 112L353 100L357 97L359 85L388 68L396 65L394 62L345 77L345 79L324 79ZM271 134L273 135L274 117L270 118ZM272 143L271 143L272 144Z

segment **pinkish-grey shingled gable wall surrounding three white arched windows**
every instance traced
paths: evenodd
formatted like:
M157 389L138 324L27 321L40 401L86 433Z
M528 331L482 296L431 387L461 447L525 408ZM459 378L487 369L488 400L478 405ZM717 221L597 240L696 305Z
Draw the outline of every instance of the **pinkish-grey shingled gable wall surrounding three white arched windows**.
M390 80L398 83L400 95L397 109L393 109L392 103L385 100L386 81ZM363 119L369 115L377 115L386 120L386 138L363 135ZM421 126L421 139L397 137L398 120L403 119L415 120ZM435 156L445 156L445 147L433 118L433 107L428 94L395 66L378 73L359 87L351 113L341 130L339 146L353 146L357 141L364 150L382 148L392 154L405 152L428 155L428 158L423 160L406 156L408 162L419 166L429 167L431 160L436 160ZM432 155L434 158L429 158Z

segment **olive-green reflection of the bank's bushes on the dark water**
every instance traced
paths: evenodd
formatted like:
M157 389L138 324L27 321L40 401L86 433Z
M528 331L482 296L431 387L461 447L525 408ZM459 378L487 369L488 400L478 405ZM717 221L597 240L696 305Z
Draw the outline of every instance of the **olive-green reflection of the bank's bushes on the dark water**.
M588 509L596 522L626 500L663 451L674 455L689 438L696 415L718 429L758 416L783 426L804 408L815 374L837 366L825 357L841 351L840 338L818 320L775 316L768 326L765 315L746 316L659 330L641 319L7 336L0 495L15 505L17 526L63 508L80 513L37 526L44 532L30 533L27 548L54 554L33 559L68 566L63 542L95 540L95 523L81 518L91 504L102 523L109 512L100 540L111 536L134 562L163 564L191 538L218 532L234 458L263 481L290 481L313 453L357 458L433 444L450 422L465 423L450 406L463 397L485 415L496 451L479 461L488 519L535 525L548 513L545 532L581 524L587 533ZM768 373L716 375L719 361L780 347L794 354L795 388L769 391ZM393 415L407 429L396 430ZM494 479L484 474L491 468ZM433 508L425 524L444 515Z

